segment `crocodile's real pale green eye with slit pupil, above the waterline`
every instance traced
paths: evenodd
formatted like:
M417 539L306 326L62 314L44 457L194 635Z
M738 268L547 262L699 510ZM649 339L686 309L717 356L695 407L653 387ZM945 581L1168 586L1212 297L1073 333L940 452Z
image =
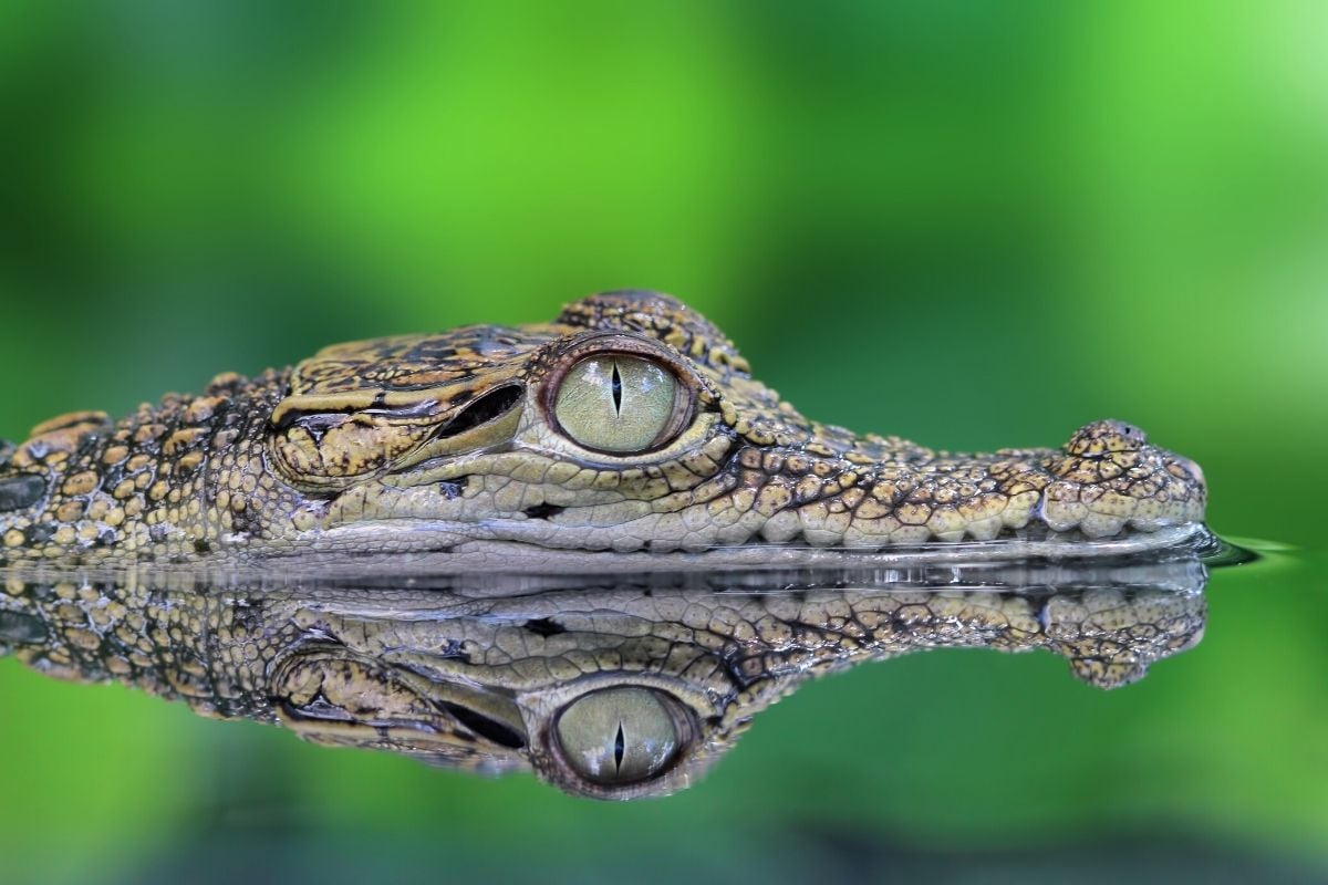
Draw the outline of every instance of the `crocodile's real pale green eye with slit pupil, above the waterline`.
M568 370L554 399L563 433L587 448L637 452L669 442L685 410L677 378L651 360L587 357Z

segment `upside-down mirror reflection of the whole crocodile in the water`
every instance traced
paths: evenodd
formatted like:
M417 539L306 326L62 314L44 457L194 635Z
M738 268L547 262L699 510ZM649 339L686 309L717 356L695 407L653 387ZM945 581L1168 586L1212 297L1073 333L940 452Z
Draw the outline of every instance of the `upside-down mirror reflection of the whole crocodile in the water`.
M0 650L321 744L578 795L693 783L803 682L939 647L1048 649L1113 689L1194 646L1203 563L975 573L558 579L543 585L290 581L157 588L9 579Z

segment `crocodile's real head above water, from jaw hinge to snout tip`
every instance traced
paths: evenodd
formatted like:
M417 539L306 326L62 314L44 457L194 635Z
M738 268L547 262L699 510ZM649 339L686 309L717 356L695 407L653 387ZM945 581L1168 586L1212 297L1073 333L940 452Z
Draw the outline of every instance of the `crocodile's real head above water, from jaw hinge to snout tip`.
M267 533L323 551L1147 545L1206 499L1197 464L1116 421L973 455L809 421L651 292L325 349L266 433L262 463L292 490Z

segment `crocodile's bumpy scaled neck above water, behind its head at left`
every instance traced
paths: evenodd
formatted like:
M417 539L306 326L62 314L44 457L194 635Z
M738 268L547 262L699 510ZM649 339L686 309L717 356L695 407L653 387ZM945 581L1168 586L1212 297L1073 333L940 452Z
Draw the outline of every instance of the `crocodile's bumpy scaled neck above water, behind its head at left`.
M197 560L288 504L252 441L286 373L220 375L112 422L74 413L0 452L0 568ZM264 494L255 494L259 491Z

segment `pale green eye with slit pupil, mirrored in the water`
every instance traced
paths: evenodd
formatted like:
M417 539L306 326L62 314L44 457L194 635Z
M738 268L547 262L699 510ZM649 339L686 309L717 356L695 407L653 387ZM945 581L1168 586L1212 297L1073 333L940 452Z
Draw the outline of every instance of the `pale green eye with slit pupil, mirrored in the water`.
M602 785L653 778L683 744L675 702L651 689L604 689L572 702L558 719L563 756Z

